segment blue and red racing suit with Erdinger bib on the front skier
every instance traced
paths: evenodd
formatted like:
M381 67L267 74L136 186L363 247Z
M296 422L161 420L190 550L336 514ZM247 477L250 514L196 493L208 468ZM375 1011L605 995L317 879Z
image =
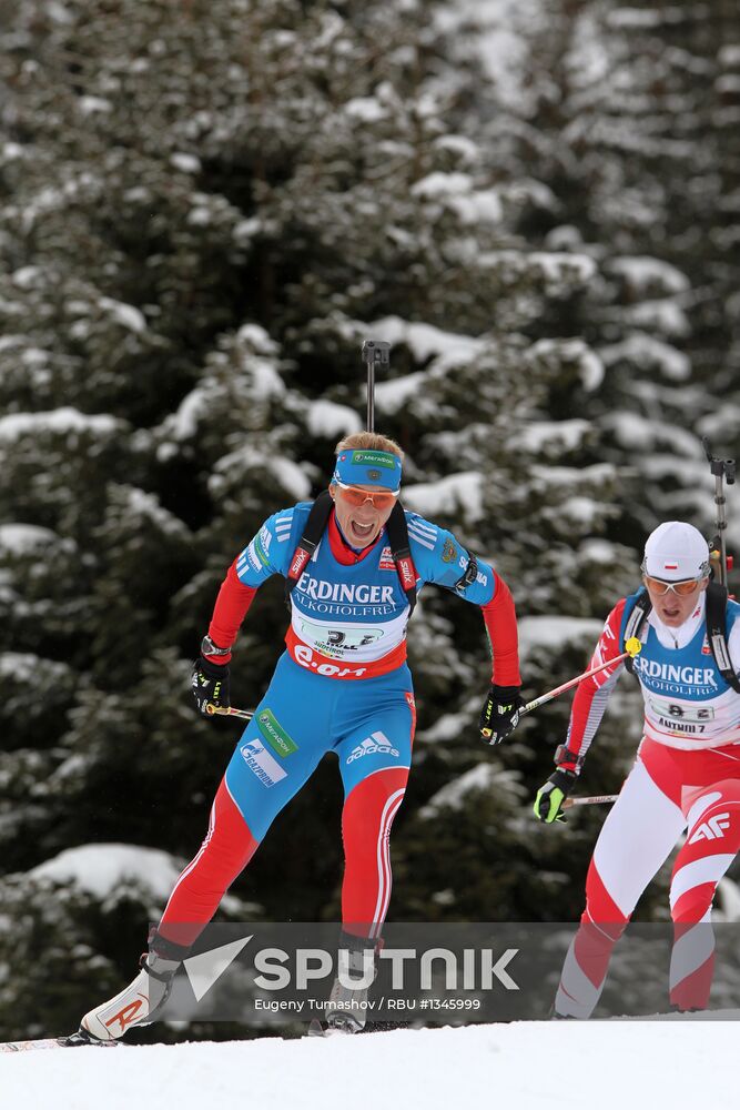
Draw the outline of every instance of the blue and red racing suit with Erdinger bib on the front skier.
M286 574L310 509L301 503L275 513L234 561L209 627L216 645L233 645L259 587ZM458 586L468 564L465 548L415 513L406 513L406 521L417 591L426 582ZM516 615L506 583L479 561L475 582L458 592L483 610L496 683L518 686ZM161 932L180 944L194 940L275 816L333 751L345 796L343 925L357 936L379 935L391 898L391 827L408 779L415 727L408 616L385 528L357 552L332 511L291 594L286 650L236 745L206 837L178 880Z

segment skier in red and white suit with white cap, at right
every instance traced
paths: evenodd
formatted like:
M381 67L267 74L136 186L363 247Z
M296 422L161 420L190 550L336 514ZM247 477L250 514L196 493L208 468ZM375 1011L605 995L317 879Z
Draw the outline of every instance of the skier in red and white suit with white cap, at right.
M586 909L555 1002L561 1017L590 1016L614 945L682 833L686 842L670 887L670 1001L679 1010L706 1008L713 967L707 922L717 884L740 848L740 695L732 676L728 683L720 674L707 637L707 543L690 524L661 524L648 538L642 571L651 608L643 618L636 614L642 649L633 669L645 698L645 735L594 849ZM611 610L595 666L624 652L632 633L630 616L643 594L622 598ZM727 647L736 676L739 614L740 605L728 602ZM558 769L535 801L540 820L561 816L624 666L615 664L578 687L568 738L556 754Z

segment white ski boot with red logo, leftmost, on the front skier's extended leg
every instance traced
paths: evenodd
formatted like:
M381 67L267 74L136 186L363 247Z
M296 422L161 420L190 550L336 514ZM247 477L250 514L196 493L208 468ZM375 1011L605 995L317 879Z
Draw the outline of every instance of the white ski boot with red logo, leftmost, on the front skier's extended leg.
M114 998L89 1010L80 1022L80 1035L93 1041L110 1041L123 1037L133 1026L150 1025L189 950L153 930L149 950L139 960L141 971L136 978Z

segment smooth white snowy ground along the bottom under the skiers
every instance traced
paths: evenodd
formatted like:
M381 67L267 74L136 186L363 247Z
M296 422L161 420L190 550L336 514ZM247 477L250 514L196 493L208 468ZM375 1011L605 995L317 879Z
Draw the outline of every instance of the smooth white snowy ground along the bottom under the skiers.
M0 1057L3 1110L731 1104L736 1021L515 1022ZM729 1100L729 1101L728 1101Z

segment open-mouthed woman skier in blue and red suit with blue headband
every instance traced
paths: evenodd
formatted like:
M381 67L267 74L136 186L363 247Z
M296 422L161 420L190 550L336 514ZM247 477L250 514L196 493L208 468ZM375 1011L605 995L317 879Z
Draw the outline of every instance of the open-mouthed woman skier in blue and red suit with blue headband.
M286 650L226 768L201 849L150 937L140 975L85 1015L82 1029L93 1037L110 1040L150 1018L189 946L327 751L338 758L345 795L343 936L357 947L377 944L391 898L391 827L404 798L415 725L406 625L425 582L480 606L495 683L480 728L497 743L516 726L517 628L506 584L449 532L415 513L394 514L405 518L407 543L405 552L395 551L401 447L363 432L336 450L333 504L327 500L315 546L303 543L311 504L283 509L264 523L221 586L193 668L202 713L209 703L229 705L232 645L254 594L274 574L292 587Z

